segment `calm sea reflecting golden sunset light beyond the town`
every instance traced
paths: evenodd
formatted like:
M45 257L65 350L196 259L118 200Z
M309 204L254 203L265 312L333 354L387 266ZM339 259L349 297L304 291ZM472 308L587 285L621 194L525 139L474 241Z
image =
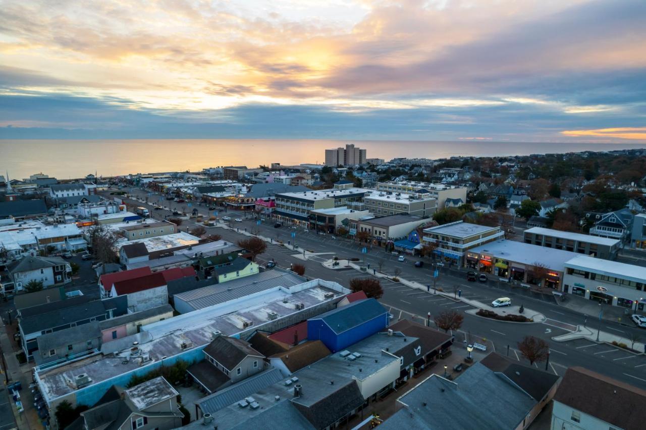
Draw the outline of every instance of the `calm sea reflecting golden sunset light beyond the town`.
M366 148L368 158L506 156L646 147L643 143L512 143L446 141L338 141L278 139L0 140L0 174L28 178L43 172L59 179L87 174L201 170L223 165L324 162L326 148L346 143Z

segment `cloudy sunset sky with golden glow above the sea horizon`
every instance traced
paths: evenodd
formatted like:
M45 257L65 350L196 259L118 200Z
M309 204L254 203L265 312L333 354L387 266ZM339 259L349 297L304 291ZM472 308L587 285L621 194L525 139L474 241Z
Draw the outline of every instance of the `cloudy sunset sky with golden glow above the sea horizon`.
M0 139L646 143L643 0L0 0Z

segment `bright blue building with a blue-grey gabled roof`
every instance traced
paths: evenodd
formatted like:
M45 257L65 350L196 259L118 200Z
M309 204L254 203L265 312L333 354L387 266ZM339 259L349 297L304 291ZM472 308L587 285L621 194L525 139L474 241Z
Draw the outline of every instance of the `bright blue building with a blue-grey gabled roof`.
M320 340L333 353L386 329L388 311L370 298L307 320L307 338Z

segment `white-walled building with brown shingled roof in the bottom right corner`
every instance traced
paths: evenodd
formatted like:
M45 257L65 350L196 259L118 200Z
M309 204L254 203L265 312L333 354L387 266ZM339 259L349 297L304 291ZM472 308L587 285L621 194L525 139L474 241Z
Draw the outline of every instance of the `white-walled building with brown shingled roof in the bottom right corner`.
M583 367L570 367L554 396L550 429L641 429L645 408L645 390Z

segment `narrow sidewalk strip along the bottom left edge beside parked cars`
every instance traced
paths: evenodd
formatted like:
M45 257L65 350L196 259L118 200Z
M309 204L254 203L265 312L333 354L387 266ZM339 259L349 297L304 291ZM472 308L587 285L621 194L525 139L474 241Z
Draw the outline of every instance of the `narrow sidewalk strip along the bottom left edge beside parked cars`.
M0 347L2 348L2 353L5 356L6 371L10 380L20 381L23 385L23 389L19 391L20 400L23 404L23 408L25 409L23 413L18 413L16 404L11 398L9 399L12 402L12 409L16 418L17 426L19 429L43 429L44 427L41 424L41 420L38 417L36 409L34 408L34 396L29 389L29 384L32 383L31 366L28 363L22 366L18 363L16 358L17 351L14 349L15 342L10 340L7 331L8 328L13 329L12 326L7 327L4 323L2 327L0 327Z

